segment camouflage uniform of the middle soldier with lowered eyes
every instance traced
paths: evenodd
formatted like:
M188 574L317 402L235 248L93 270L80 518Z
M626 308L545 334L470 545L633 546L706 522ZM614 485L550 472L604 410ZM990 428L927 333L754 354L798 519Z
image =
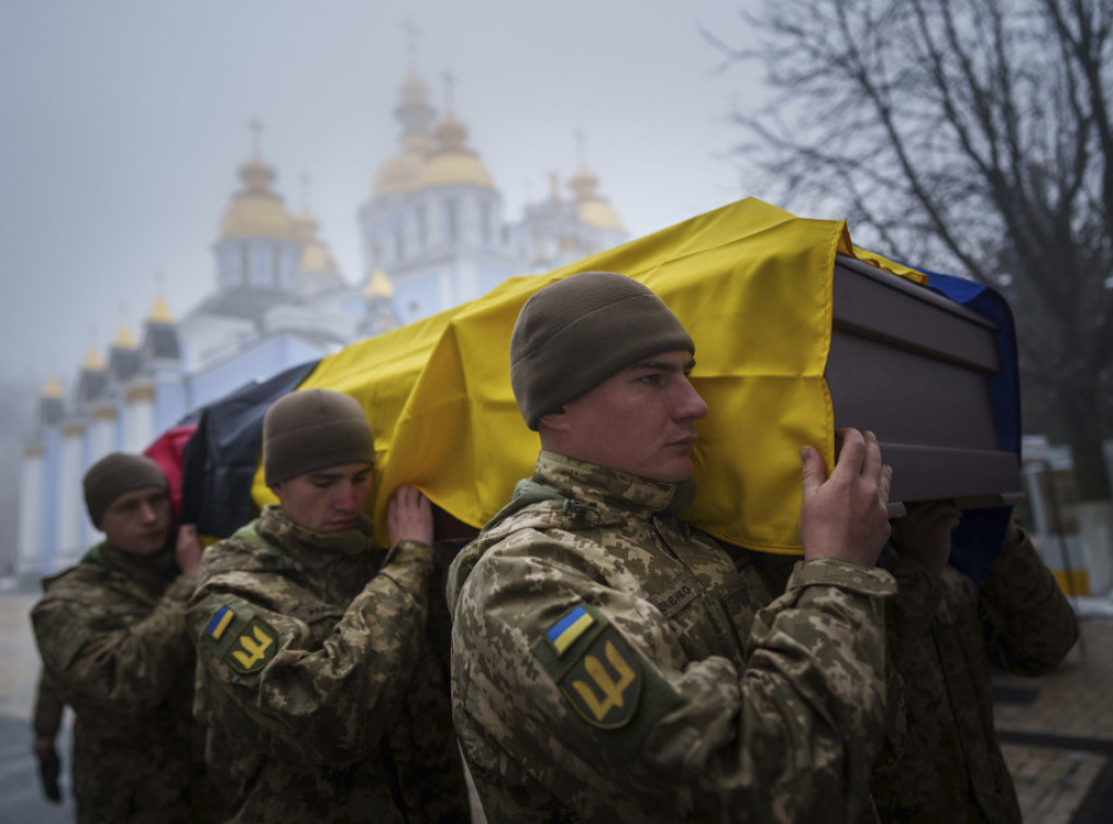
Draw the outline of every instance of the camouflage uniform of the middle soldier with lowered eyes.
M372 549L366 520L315 532L277 507L206 551L197 712L234 821L466 820L431 567L411 541Z

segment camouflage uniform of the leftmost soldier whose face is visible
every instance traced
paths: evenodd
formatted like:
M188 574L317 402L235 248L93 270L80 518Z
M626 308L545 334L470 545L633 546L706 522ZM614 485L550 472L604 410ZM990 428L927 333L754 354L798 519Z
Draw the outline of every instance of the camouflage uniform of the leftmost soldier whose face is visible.
M81 824L190 821L203 737L185 632L194 583L170 550L145 557L106 543L43 581L31 622L43 667L77 716Z

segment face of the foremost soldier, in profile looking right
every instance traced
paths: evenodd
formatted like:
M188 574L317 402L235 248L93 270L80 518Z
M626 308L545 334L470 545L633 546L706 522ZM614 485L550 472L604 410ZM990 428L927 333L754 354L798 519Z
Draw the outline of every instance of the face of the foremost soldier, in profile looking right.
M695 365L683 350L647 357L545 415L559 429L556 451L657 481L686 480L696 421L707 414L688 380Z

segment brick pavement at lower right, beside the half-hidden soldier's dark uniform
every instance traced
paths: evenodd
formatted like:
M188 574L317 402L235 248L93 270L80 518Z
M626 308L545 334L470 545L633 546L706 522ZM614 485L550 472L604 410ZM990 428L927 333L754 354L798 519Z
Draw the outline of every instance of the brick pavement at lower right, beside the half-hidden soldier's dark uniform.
M994 716L1025 824L1113 821L1113 622L1085 620L1082 642L1042 678L994 678Z

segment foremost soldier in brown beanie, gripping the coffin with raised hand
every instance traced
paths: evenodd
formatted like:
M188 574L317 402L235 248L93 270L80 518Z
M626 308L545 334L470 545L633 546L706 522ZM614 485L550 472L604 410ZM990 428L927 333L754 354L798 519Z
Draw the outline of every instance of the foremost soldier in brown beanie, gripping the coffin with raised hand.
M886 722L892 471L847 430L801 451L805 560L769 601L690 502L695 346L650 290L534 294L511 382L542 451L450 570L453 717L499 822L845 821ZM745 425L740 422L739 425Z

